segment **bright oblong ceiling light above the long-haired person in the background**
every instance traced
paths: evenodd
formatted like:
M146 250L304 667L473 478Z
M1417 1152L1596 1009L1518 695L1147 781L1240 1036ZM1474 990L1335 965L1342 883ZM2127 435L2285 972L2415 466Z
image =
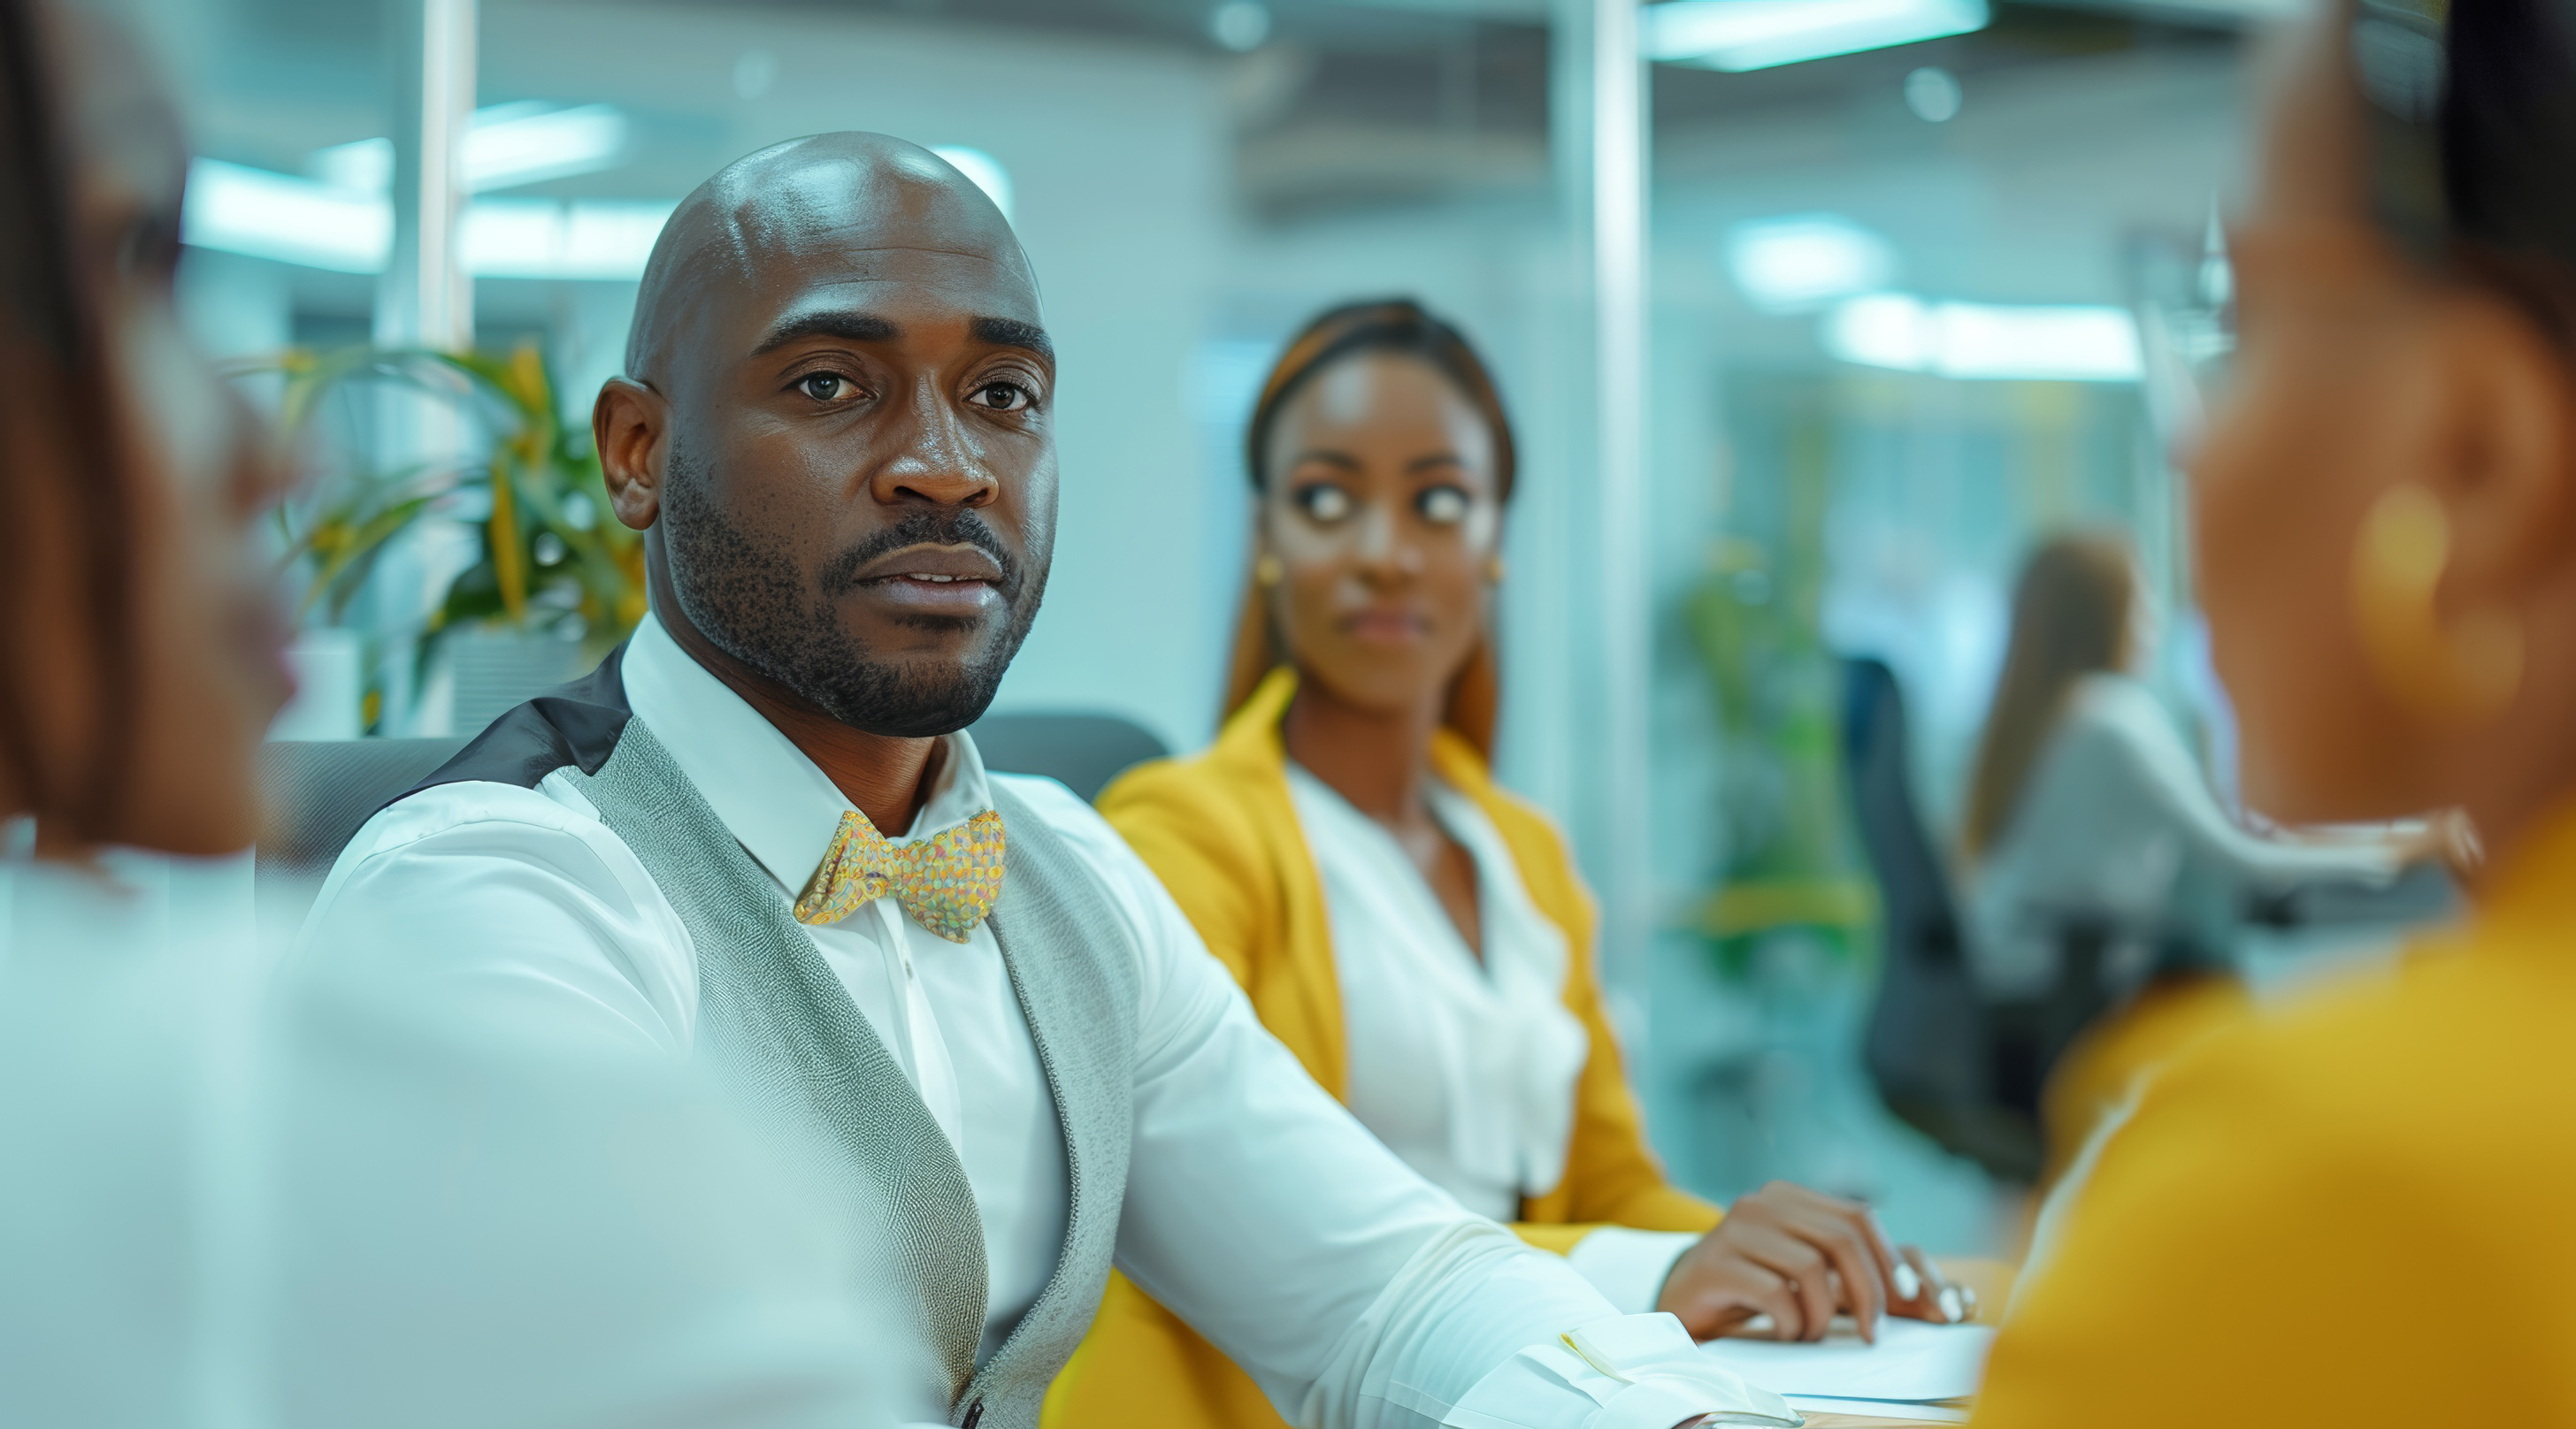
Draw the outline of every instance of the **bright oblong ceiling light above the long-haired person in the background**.
M1953 378L2138 381L2138 322L2117 306L1935 304L1868 294L1824 319L1824 348Z

